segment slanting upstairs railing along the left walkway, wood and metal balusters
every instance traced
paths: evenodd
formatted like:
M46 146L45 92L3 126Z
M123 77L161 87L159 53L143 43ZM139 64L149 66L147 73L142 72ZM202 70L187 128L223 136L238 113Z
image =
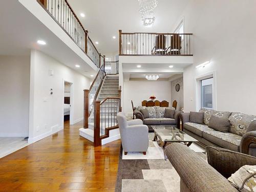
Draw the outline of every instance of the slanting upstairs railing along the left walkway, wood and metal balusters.
M100 68L100 54L67 0L37 0L77 46Z

